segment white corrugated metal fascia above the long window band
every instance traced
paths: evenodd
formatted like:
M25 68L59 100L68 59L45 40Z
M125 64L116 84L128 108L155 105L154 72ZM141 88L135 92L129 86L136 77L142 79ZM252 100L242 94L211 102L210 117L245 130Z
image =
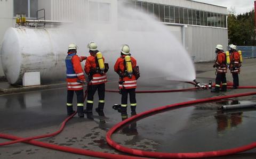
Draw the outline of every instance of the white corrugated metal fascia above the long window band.
M172 6L180 6L180 7L185 7L185 8L189 8L189 9L227 14L226 7L210 5L210 4L206 4L206 3L200 3L200 2L189 1L189 0L136 0L136 1L148 2L148 3L158 3L158 4L172 5Z

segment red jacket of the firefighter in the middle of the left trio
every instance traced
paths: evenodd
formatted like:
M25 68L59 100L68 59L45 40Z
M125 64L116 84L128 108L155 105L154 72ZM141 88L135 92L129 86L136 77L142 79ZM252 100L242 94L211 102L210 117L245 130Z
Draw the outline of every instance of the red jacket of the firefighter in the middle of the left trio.
M99 68L99 66L97 66L96 60L97 60L97 58L93 55L90 55L89 57L87 57L85 66L84 66L84 71L86 74L89 74L90 70L92 68L93 69ZM105 61L104 57L103 57L103 61ZM99 85L101 83L106 83L106 82L107 82L106 73L103 73L103 74L95 73L92 75L92 79L91 79L89 85Z

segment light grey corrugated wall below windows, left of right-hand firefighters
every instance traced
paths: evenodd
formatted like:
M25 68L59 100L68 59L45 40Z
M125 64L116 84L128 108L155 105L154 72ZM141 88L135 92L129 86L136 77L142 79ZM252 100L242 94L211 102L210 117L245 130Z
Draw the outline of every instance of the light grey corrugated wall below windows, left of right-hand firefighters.
M221 44L224 51L227 51L227 29L197 26L185 28L185 47L190 56L195 56L195 62L214 60L217 44Z

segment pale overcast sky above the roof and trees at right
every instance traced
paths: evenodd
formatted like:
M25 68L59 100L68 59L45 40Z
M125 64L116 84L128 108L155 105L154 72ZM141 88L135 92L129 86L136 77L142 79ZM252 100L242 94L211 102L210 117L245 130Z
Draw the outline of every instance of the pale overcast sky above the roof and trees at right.
M251 11L254 8L254 0L194 0L203 3L225 6L228 9L235 7L236 14Z

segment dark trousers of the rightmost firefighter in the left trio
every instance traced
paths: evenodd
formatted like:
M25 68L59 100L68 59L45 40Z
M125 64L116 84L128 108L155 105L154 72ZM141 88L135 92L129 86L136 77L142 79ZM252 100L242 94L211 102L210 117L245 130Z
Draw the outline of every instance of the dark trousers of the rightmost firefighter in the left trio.
M128 94L130 96L131 111L132 111L132 113L134 113L134 112L136 112L136 106L137 106L135 88L121 89L121 95L122 95L121 111L127 110Z

